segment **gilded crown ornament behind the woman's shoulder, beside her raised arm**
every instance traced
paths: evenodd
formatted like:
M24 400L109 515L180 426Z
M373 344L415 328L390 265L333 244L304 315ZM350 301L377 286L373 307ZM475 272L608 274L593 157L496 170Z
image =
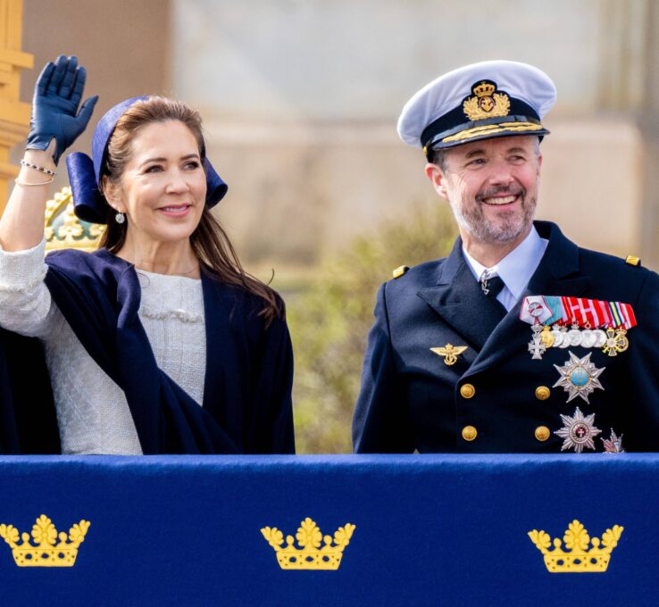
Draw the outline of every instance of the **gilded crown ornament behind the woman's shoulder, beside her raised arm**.
M105 226L79 220L73 212L71 187L63 187L46 202L44 233L46 250L82 249L96 251Z

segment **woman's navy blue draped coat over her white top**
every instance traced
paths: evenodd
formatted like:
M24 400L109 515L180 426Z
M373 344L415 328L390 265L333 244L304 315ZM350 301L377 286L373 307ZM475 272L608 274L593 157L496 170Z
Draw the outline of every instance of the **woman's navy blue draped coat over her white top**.
M144 453L295 451L288 327L279 318L266 327L260 297L202 273L206 370L200 407L157 366L138 317L141 288L131 264L104 249L61 251L46 262L54 302L89 355L124 391ZM0 334L0 346L7 346L0 348L1 453L59 446L34 341ZM31 360L18 363L22 353Z

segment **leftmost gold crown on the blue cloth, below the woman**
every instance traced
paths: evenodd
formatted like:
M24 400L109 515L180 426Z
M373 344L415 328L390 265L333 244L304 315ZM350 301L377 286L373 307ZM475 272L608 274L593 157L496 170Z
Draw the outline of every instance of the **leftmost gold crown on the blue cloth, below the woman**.
M17 544L19 531L13 525L0 525L0 537L12 548L13 560L19 567L73 567L89 524L88 520L80 520L69 529L67 537L64 532L58 535L53 521L42 514L32 526L35 545L30 543L29 533L23 533L22 544Z

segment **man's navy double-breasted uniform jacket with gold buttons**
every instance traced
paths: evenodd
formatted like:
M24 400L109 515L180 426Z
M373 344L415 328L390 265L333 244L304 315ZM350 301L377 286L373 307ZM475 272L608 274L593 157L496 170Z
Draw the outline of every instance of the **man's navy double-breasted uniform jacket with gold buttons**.
M612 357L601 348L552 347L542 360L531 360L521 302L500 320L458 238L446 259L380 287L353 420L356 452L556 453L563 446L554 434L563 428L561 415L572 417L577 407L594 413L602 430L596 451L603 451L601 438L612 428L624 435L627 451L659 451L659 276L581 249L555 224L535 225L549 243L523 296L630 303L638 325L628 331L629 349ZM467 346L452 366L430 351L446 344ZM589 403L580 397L567 403L563 387L553 387L560 378L554 365L563 366L568 352L591 353L590 361L605 367L604 390L590 394ZM537 394L547 390L538 387L548 388L546 400ZM463 438L469 426L476 429L471 441ZM549 429L545 440L536 437L541 427Z

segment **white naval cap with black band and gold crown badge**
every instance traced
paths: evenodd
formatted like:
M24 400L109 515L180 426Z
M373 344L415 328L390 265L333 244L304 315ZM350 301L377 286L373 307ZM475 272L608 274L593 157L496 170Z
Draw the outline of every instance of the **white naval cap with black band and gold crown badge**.
M421 88L400 114L398 135L424 152L490 137L542 137L549 131L540 121L555 100L554 82L532 65L472 63Z

